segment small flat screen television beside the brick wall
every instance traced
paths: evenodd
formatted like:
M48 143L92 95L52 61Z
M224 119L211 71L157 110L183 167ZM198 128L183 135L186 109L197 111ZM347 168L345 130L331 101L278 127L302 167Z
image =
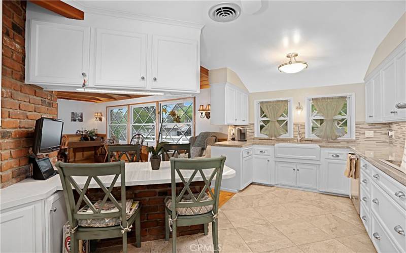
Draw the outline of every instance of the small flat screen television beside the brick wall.
M36 155L58 150L62 139L63 120L39 118L35 122L32 152Z

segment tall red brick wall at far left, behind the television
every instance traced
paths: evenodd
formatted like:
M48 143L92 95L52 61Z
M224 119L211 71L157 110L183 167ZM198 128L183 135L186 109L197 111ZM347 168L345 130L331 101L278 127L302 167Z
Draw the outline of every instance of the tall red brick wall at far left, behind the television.
M25 1L3 1L0 188L26 178L35 120L57 115L56 94L24 84L25 10Z

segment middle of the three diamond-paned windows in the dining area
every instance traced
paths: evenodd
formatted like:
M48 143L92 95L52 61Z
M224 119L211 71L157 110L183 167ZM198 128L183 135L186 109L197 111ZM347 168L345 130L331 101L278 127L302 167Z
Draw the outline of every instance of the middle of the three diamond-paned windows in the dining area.
M142 134L145 145L155 144L156 105L132 105L131 107L131 136Z

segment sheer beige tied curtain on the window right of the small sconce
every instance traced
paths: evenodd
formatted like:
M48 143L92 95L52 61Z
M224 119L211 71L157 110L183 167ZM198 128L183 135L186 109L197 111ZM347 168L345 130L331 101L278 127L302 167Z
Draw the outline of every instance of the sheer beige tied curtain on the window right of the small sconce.
M316 110L324 116L324 122L314 134L322 140L332 141L346 134L344 129L334 123L334 116L339 115L347 97L313 98Z

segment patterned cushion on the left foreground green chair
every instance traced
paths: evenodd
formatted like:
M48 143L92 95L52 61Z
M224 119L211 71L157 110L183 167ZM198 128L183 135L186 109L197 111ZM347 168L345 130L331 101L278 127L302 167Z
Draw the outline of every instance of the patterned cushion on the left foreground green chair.
M101 200L98 200L96 203L94 203L94 207L98 209L97 207L100 206ZM119 204L121 204L120 201L118 201ZM126 201L126 219L127 221L134 215L136 210L139 208L140 204L138 201L132 201L132 200L127 200ZM116 212L118 209L115 207L115 205L107 201L103 205L103 210L101 213L106 212ZM88 205L85 205L82 207L79 211L78 214L89 214L92 215L93 212L89 208ZM80 227L112 227L112 226L118 226L121 224L121 218L120 217L113 217L113 218L98 218L98 219L78 219L78 225Z

